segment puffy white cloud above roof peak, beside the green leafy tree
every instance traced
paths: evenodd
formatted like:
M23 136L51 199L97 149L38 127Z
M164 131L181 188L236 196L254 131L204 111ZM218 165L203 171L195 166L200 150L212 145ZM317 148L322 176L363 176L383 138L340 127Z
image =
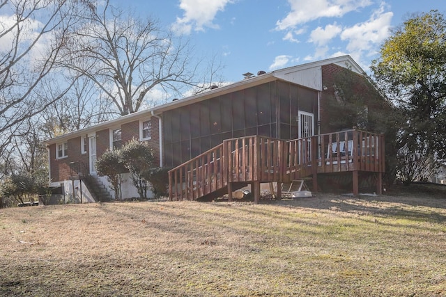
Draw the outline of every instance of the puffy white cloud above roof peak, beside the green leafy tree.
M367 22L344 29L341 40L348 42L346 49L351 52L374 51L390 35L393 13L384 13L383 7L371 15Z

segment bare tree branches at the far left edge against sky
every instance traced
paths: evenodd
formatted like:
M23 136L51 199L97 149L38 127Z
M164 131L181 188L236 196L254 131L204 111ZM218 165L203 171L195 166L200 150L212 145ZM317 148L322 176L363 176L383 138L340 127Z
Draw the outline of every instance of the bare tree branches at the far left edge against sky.
M0 153L20 135L20 124L63 97L41 96L54 71L76 10L87 0L0 0Z

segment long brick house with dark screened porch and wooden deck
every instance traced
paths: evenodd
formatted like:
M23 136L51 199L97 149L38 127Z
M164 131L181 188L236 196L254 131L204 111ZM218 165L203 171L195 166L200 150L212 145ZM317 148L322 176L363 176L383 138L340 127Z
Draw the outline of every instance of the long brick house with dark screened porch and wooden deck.
M348 82L347 89L339 86L343 82ZM343 112L347 106L344 101L348 99L345 98L348 96L348 90L362 94L361 104L359 109L353 112L355 114L350 122L353 125L343 127L342 125L348 124L342 123L342 120L352 118L352 112ZM234 162L245 160L248 155L251 159L246 159L244 166L247 167L250 162L249 166L261 168L260 163L253 161L254 150L248 145L263 141L264 146L271 147L271 150L266 152L274 154L269 156L265 152L263 160L271 159L272 161L268 161L270 163L279 162L281 171L275 172L276 169L272 168L271 164L266 164L270 166L268 170L272 172L271 177L256 179L255 185L259 182L286 182L291 175L293 178L302 178L306 172L306 176L314 177L313 186L316 191L318 172L315 170L316 167L321 167L323 172L320 173L353 172L353 175L348 177L353 179L354 193L357 193L357 179L360 176L358 174L371 172L373 177L367 176L365 179L376 180L376 191L380 192L384 168L383 137L380 134L351 128L363 128L361 126L367 122L368 113L373 109L382 108L383 102L385 103L383 97L368 82L364 71L350 56L329 58L268 73L259 71L256 76L246 77L227 86L210 88L205 93L174 100L45 141L49 152L49 178L52 186L75 189L73 180L79 182L77 178L82 174L95 175L94 162L105 150L112 150L125 141L137 138L151 143L159 166L174 168L189 162L183 169L171 172L171 198L175 196L175 199L183 199L183 195L189 198L188 193L195 191L198 196L194 196L194 199L197 199L199 196L208 195L207 191L216 191L217 188L231 192L233 186L254 183L251 179L244 179L233 184L233 176L229 179L227 176L223 178L223 172L219 170L228 170L229 159L232 158ZM340 106L340 109L333 106ZM341 124L337 124L337 120L341 120ZM350 130L347 131L348 128ZM257 138L249 138L250 136ZM314 140L310 141L312 137ZM238 139L237 143L227 143L234 138ZM292 143L291 140L295 139L301 141ZM225 141L228 147L210 154L210 150ZM261 149L263 146L257 147ZM224 159L220 158L224 150L232 157L227 155L225 163L220 164ZM240 158L235 155L236 151ZM359 155L369 159L355 158ZM256 158L259 156L260 152L255 154ZM279 156L281 159L274 159ZM372 156L373 159L370 159ZM308 160L305 160L305 157ZM286 161L283 161L284 158ZM192 162L195 165L191 165L191 160L196 160ZM292 160L295 160L295 164L293 169L290 169L289 162ZM312 163L308 163L310 161ZM77 173L82 171L82 166L79 165L81 163L84 173L79 175ZM217 163L220 165L214 166ZM365 163L372 165L366 167ZM305 168L302 167L303 164L307 164ZM313 171L309 171L312 164ZM210 168L215 171L209 172ZM288 171L284 171L284 168L288 168ZM249 168L244 168L242 171L248 170ZM257 176L257 169L250 170L250 177ZM277 177L272 177L276 174ZM200 180L201 175L203 180ZM260 175L262 174L258 176ZM217 185L217 179L220 178L222 184ZM101 182L106 184L103 177ZM206 184L208 190L200 189ZM68 192L74 195L74 190L71 191ZM123 197L132 197L133 193L135 192L130 183L123 186Z

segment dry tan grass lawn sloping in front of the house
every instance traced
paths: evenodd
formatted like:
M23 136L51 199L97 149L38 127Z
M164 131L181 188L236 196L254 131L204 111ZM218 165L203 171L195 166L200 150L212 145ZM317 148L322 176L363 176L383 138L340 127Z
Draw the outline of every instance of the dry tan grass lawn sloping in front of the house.
M445 202L320 194L0 209L0 295L445 296Z

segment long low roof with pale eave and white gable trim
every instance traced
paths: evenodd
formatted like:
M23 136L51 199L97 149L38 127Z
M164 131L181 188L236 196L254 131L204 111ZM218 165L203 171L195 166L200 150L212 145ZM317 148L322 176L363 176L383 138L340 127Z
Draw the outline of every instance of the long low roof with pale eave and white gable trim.
M195 102L201 102L206 99L210 99L212 97L217 97L220 95L224 95L227 93L232 93L237 90L244 90L246 88L250 88L252 86L259 86L262 83L267 83L270 81L275 81L277 79L283 81L290 81L292 83L299 84L301 86L306 86L308 88L313 88L315 90L322 90L322 80L314 79L315 75L321 73L321 67L323 65L336 64L341 67L346 67L353 72L364 75L365 72L362 70L360 65L351 58L351 56L339 56L335 58L328 58L321 61L315 61L311 63L305 63L302 65L296 65L292 67L287 67L281 70L275 70L272 72L268 72L266 74L260 74L254 77L250 77L248 79L243 79L241 81L236 81L235 83L231 83L226 86L221 86L219 88L213 88L212 90L208 90L204 93L199 93L197 95L192 95L190 97L186 97L183 99L179 99L176 101L172 101L166 104L162 104L159 106L152 107L151 109L145 109L144 111L137 111L136 113L131 113L130 115L123 115L120 118L116 118L114 120L108 120L107 122L102 122L98 125L94 125L91 127L87 127L84 129L80 129L77 131L72 131L68 134L64 134L62 136L57 136L51 138L47 141L43 141L45 145L51 145L54 143L61 143L62 141L66 141L70 138L79 137L82 135L89 134L93 131L98 131L100 129L107 129L110 127L114 127L116 125L122 125L127 122L132 122L134 120L139 120L146 116L151 116L153 114L157 115L162 113L163 111L168 111L171 109L176 109L181 106L186 106L189 104L193 104Z

